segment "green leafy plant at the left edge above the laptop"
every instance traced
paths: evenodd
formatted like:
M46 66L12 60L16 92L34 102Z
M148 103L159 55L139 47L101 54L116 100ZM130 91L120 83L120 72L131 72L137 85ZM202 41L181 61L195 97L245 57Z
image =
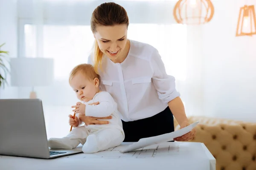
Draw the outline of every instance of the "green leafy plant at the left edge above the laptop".
M2 51L1 47L4 45L5 43L3 43L2 45L0 45L0 87L3 85L4 83L7 83L6 81L6 76L7 73L9 72L8 68L6 67L4 61L8 61L6 55L8 55L8 51Z

